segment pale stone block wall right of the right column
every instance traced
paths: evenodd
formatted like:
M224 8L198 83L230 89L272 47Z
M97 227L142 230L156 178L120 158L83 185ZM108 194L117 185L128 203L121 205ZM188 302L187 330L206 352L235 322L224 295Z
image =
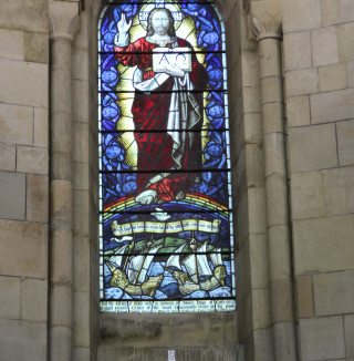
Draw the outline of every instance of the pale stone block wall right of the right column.
M354 2L285 1L283 33L301 360L353 360Z

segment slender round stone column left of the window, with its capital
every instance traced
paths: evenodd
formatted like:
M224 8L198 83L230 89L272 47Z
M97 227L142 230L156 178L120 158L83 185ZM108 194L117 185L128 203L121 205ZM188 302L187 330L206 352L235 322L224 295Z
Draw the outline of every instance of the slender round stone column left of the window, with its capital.
M79 2L50 1L49 360L72 354L72 39Z

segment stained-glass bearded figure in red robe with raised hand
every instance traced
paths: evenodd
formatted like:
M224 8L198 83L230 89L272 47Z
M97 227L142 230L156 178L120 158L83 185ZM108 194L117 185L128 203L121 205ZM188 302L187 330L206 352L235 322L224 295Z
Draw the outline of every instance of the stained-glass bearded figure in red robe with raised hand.
M191 72L173 64L166 64L164 72L153 71L154 49L192 49L176 37L169 10L154 9L148 17L146 37L133 43L131 27L132 20L127 22L122 14L114 51L122 64L137 66L133 76L132 106L139 171L135 200L150 205L183 199L197 182L196 174L190 171L201 168L198 131L202 125L202 92L192 91L206 89L207 72L195 54L191 54Z

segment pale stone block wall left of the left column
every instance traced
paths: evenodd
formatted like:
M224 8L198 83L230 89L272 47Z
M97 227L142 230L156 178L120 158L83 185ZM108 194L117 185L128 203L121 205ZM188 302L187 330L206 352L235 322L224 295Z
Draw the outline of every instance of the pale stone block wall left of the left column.
M46 1L1 1L0 360L46 359L48 34Z

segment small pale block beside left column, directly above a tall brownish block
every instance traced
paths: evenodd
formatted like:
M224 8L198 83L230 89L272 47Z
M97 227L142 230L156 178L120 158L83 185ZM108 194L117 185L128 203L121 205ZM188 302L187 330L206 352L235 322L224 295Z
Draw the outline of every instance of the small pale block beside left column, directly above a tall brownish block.
M31 146L18 146L17 171L25 173L48 174L48 149Z

